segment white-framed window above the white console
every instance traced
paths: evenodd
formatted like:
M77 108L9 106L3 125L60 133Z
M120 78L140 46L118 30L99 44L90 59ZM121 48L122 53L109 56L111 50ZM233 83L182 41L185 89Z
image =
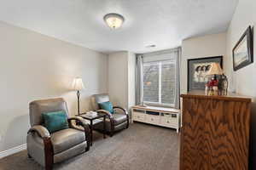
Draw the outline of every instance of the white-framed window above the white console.
M176 61L164 60L143 64L143 102L175 105L177 91Z

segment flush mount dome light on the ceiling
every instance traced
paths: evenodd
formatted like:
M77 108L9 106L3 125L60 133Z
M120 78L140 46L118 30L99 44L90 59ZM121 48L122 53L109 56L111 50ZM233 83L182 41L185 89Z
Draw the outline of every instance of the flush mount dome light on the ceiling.
M110 13L104 16L106 24L112 29L118 29L125 21L125 18L120 14Z

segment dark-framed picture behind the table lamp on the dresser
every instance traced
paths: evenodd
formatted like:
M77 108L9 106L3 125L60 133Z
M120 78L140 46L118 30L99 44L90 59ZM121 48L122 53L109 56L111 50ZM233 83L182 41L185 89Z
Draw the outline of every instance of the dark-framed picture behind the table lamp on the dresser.
M209 80L207 71L210 70L212 63L218 63L222 67L223 56L188 59L188 92L205 89Z

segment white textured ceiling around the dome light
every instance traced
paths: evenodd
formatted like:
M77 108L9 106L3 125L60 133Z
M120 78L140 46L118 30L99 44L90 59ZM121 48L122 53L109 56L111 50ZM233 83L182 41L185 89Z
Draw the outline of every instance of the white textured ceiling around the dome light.
M144 53L225 31L238 0L0 0L0 20L86 48ZM125 17L119 30L102 20ZM155 44L155 48L145 46Z

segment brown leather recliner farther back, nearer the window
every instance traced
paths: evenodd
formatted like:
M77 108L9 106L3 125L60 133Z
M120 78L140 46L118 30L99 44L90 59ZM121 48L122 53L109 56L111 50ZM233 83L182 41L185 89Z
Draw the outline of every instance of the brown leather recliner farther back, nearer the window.
M124 108L119 106L113 106L113 114L105 110L100 110L99 103L107 101L109 101L108 94L95 94L92 96L92 105L94 111L107 115L106 131L110 133L110 136L113 136L114 132L129 127L129 115ZM103 124L98 123L93 128L103 131Z

